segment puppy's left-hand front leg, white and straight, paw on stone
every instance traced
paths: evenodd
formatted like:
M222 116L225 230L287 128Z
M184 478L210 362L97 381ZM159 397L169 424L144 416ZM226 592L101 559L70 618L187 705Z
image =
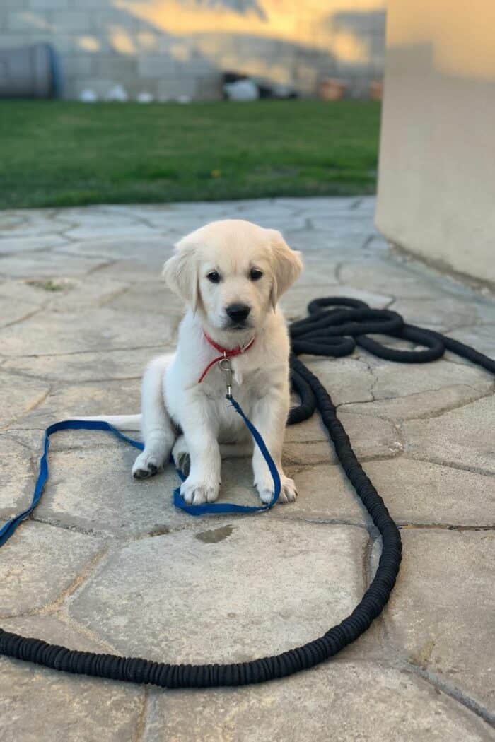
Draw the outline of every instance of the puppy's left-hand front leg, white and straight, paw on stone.
M209 400L194 396L183 405L180 426L184 432L183 453L189 453L189 475L180 493L189 505L213 502L220 490L220 448L217 422L209 415ZM180 455L177 447L177 456Z

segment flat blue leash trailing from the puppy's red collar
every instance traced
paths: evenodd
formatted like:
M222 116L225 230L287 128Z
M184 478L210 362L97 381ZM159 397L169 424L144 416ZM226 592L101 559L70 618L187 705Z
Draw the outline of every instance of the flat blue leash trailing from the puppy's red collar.
M275 462L273 461L272 456L270 456L269 450L266 448L263 438L260 436L260 433L258 433L258 430L256 430L252 422L243 413L243 410L235 401L235 399L233 397L227 397L227 399L232 404L232 407L234 407L235 411L239 413L241 418L243 418L243 421L246 424L249 433L251 433L255 444L258 446L260 452L263 454L263 458L265 459L266 464L268 464L274 485L272 500L266 505L235 505L235 503L233 502L205 502L203 503L203 505L188 505L186 502L184 502L184 499L180 494L180 487L177 487L177 489L174 490L174 505L177 508L184 510L186 513L189 513L189 515L200 516L209 514L220 515L222 513L258 513L260 510L269 510L270 508L272 508L273 505L275 505L275 502L277 502L278 496L280 495L280 476L278 475L278 470L275 466ZM36 508L36 505L38 505L39 500L42 496L43 488L48 481L48 477L50 476L50 472L48 470L48 451L50 450L50 436L53 436L53 433L58 433L59 430L105 430L108 433L114 433L117 438L122 439L122 441L127 441L127 443L130 443L131 446L134 446L135 448L139 448L140 450L143 450L144 448L143 444L140 441L134 441L134 439L129 438L129 436L125 436L124 433L121 433L120 430L117 430L117 428L111 425L109 422L101 420L61 420L59 422L53 423L53 425L49 425L45 430L45 444L43 447L42 458L39 461L39 474L38 478L36 479L33 499L31 500L28 508L22 510L22 513L18 513L16 516L13 516L13 518L7 521L0 528L0 546L3 546L4 543L8 539L10 539L10 536L12 536L14 531L16 531L16 528L22 523L23 520L30 516L30 513L32 513L34 508ZM180 469L177 469L177 474L180 476L180 479L182 479L182 481L186 479L186 476L184 476L183 472L180 471Z

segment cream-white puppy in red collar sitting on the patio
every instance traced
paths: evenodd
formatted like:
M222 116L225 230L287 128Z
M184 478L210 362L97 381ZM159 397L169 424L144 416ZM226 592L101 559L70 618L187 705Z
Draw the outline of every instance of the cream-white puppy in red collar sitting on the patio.
M280 232L243 220L208 224L177 243L163 275L188 309L177 352L155 358L145 371L145 448L132 467L134 477L153 476L172 453L188 474L180 488L183 499L194 505L217 499L220 444L243 444L249 433L226 400L226 374L218 364L206 369L223 349L234 349L232 394L278 468L281 502L295 499L294 482L281 464L289 413L289 337L278 299L301 269L300 254ZM106 419L128 430L137 417ZM261 501L270 502L272 476L258 447L252 470Z

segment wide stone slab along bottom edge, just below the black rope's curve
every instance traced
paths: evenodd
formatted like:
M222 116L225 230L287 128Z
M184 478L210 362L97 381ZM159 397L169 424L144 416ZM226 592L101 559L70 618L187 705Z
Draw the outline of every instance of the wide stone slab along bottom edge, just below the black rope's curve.
M487 723L413 674L332 660L246 689L151 691L145 742L488 742Z

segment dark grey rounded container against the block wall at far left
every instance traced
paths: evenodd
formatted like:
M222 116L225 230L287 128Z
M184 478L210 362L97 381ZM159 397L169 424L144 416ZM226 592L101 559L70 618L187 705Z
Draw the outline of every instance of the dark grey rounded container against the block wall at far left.
M58 59L49 44L0 49L0 98L58 98Z

